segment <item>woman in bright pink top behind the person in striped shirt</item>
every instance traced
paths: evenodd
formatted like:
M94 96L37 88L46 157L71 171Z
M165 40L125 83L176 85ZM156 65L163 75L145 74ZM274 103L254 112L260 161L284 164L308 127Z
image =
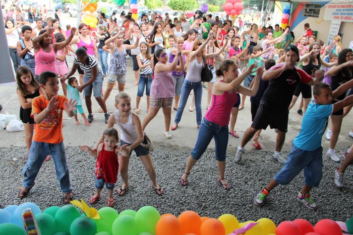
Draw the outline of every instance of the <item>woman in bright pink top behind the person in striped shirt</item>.
M89 32L90 31L88 30L86 24L79 24L80 36L74 36L74 38L70 42L70 45L76 44L77 48L85 46L87 48L87 54L94 55L96 59L98 59L98 49L95 40L93 40L93 38L89 35ZM84 72L80 67L77 69L77 71L80 74L80 85L83 85Z

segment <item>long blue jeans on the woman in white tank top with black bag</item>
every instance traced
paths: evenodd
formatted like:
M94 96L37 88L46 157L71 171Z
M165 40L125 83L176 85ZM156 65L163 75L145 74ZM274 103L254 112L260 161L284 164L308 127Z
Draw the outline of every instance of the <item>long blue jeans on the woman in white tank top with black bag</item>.
M197 82L197 83L192 83L192 82L189 82L188 80L184 80L184 84L182 87L182 94L180 95L180 103L179 103L179 107L178 107L178 112L177 112L177 115L175 116L175 120L174 120L174 122L177 124L182 119L183 111L184 111L186 102L188 101L191 90L194 90L194 96L195 96L196 122L198 125L201 125L202 83L201 83L201 81Z

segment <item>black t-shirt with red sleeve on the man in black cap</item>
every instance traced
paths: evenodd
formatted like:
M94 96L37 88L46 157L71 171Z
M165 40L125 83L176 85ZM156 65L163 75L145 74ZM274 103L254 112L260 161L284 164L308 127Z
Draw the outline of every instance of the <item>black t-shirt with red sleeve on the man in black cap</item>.
M284 63L272 66L269 71L281 68ZM278 109L288 109L297 85L309 83L311 76L300 68L287 69L270 80L262 100ZM275 108L274 107L274 108Z

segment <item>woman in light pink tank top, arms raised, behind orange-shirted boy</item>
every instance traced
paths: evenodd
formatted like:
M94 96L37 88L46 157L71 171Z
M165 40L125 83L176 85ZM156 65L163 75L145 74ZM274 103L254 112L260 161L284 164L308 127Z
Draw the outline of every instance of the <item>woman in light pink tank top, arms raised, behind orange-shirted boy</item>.
M38 82L39 75L44 71L56 71L56 52L69 45L74 37L76 28L72 28L71 35L65 41L52 43L51 34L54 28L49 27L46 30L41 30L38 37L33 39L34 58L35 58L35 80Z

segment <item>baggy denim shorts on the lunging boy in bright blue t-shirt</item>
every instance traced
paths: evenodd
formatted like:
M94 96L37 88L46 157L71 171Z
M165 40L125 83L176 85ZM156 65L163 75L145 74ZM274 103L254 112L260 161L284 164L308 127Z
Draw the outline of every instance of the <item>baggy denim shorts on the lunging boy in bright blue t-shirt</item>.
M304 184L318 187L322 178L322 147L306 151L292 144L288 159L283 168L274 176L274 180L286 185L304 169Z

